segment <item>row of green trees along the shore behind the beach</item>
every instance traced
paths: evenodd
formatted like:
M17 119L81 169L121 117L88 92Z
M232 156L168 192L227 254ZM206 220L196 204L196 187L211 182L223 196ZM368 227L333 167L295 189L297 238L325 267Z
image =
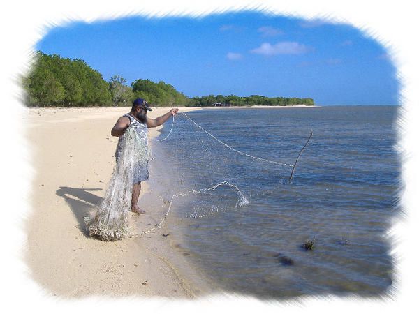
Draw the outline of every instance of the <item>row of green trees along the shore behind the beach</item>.
M131 106L135 98L145 98L157 107L230 106L313 106L312 98L265 97L251 95L209 95L188 98L171 84L135 80L131 87L124 77L114 75L109 82L82 59L62 58L57 54L36 53L31 73L22 80L28 107Z

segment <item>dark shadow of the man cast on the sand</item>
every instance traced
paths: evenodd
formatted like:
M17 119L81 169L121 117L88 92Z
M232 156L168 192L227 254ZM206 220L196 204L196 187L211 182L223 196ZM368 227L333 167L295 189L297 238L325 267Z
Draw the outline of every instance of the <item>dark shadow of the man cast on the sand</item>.
M55 192L66 200L70 206L71 211L78 221L78 227L84 235L87 235L86 224L84 217L90 216L92 209L103 201L103 197L99 197L89 190L102 190L101 188L70 188L69 186L60 186Z

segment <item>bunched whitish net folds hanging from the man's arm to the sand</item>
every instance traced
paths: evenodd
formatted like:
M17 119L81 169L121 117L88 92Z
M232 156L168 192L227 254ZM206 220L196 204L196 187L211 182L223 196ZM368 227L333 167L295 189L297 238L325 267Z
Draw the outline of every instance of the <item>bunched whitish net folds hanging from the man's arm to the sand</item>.
M89 235L103 241L116 241L128 234L134 167L145 166L150 156L147 143L138 139L138 133L131 126L126 129L121 144L122 153L112 172L105 198L94 218L84 218Z

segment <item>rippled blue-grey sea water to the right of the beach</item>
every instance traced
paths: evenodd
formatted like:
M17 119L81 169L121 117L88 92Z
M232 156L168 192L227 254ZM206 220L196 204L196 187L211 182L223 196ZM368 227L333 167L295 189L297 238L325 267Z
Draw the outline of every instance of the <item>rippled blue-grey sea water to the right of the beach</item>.
M399 213L397 107L354 106L189 112L216 142L178 114L172 134L154 142L152 173L164 198L179 197L167 224L193 267L222 290L257 297L382 294L392 283L390 218ZM161 138L170 130L168 122ZM160 179L159 179L160 178ZM164 179L163 179L164 178ZM314 239L314 249L302 244Z

